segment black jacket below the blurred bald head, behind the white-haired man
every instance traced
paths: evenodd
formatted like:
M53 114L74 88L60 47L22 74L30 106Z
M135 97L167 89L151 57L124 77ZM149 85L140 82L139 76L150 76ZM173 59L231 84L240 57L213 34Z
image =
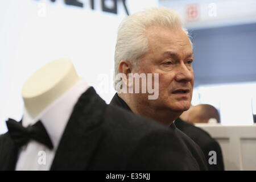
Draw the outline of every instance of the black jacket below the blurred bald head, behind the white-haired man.
M175 125L178 129L183 131L185 134L188 135L194 142L196 142L199 147L204 152L205 158L209 160L209 151L215 151L217 155L217 164L210 164L208 163L208 168L210 171L223 171L224 170L224 162L222 159L222 152L221 147L216 140L214 140L210 135L196 127L183 121L180 118L177 118L175 121Z

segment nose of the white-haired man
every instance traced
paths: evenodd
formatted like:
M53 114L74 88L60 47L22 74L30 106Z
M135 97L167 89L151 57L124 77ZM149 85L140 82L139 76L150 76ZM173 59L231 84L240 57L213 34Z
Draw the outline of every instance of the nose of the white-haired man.
M175 80L177 82L190 82L194 79L192 67L187 67L185 64L180 64L176 70Z

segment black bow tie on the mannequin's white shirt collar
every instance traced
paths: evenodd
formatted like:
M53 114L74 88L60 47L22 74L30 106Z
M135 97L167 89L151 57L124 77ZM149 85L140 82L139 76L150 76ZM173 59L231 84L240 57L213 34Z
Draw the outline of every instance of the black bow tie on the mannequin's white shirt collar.
M30 139L34 139L39 143L45 144L49 149L53 148L51 139L41 121L36 122L32 126L23 127L21 122L14 119L6 121L10 137L14 140L17 147L22 147Z

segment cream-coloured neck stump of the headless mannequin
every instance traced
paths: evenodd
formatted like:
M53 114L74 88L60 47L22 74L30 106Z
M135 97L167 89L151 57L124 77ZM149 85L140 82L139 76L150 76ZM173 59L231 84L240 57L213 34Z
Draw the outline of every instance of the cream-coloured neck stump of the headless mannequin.
M31 118L36 118L79 80L75 67L68 59L44 65L23 85L22 98L27 113Z

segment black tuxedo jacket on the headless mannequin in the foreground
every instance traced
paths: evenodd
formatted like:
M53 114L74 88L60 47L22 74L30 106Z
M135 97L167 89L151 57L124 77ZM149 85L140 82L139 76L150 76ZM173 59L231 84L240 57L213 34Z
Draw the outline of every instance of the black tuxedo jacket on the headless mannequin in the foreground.
M18 159L9 133L0 136L0 170ZM197 170L174 131L83 93L57 147L51 170Z

